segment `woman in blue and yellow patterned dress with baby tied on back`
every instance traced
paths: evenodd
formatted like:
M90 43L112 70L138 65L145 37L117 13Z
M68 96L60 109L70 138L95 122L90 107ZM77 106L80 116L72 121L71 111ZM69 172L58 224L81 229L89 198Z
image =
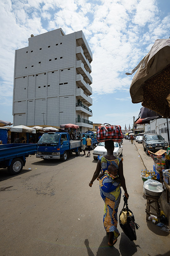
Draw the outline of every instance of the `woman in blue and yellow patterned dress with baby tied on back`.
M127 193L124 174L123 174L123 158L118 158L113 155L114 141L106 140L105 148L107 154L105 156L98 156L98 162L96 171L93 174L92 180L89 183L91 187L94 180L97 179L100 172L104 172L104 175L99 178L100 194L105 203L104 205L104 228L109 235L108 245L113 246L117 242L117 237L120 235L117 229L117 211L120 204L121 188L124 189L124 195L129 198ZM117 177L108 171L110 164L113 164L117 168ZM112 168L109 168L112 169ZM119 178L119 180L115 179Z

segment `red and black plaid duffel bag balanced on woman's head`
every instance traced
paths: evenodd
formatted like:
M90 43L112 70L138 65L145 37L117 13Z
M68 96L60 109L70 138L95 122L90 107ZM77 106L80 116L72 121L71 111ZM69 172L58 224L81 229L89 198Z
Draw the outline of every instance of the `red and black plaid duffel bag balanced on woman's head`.
M121 131L120 125L102 125L97 127L97 141L113 140L115 142L121 142L124 138L124 134Z

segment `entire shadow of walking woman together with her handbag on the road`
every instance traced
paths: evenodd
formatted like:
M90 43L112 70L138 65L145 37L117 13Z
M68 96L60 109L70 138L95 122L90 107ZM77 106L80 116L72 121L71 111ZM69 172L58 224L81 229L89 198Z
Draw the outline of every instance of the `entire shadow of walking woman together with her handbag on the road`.
M121 233L119 243L119 250L120 252L114 247L108 246L108 236L104 236L103 240L96 252L96 256L132 256L134 253L137 252L137 247L139 245L136 245L133 241L131 242L129 238L124 234ZM117 241L118 243L118 241ZM92 250L89 247L89 240L85 239L84 244L86 245L87 252L89 256L95 256L95 254L92 252Z

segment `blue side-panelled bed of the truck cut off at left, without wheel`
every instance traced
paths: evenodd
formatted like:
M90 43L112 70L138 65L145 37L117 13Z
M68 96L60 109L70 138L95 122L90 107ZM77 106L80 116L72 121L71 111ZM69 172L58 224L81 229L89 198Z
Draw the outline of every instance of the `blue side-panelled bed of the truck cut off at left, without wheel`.
M37 144L12 143L0 145L0 161L27 156L37 151Z

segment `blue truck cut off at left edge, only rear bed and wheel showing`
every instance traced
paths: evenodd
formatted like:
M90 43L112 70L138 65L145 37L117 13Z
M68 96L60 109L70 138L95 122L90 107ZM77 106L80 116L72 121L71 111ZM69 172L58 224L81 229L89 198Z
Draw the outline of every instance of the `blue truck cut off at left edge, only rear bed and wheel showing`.
M0 168L8 169L10 174L18 174L26 163L26 157L35 155L37 144L12 143L0 145Z

